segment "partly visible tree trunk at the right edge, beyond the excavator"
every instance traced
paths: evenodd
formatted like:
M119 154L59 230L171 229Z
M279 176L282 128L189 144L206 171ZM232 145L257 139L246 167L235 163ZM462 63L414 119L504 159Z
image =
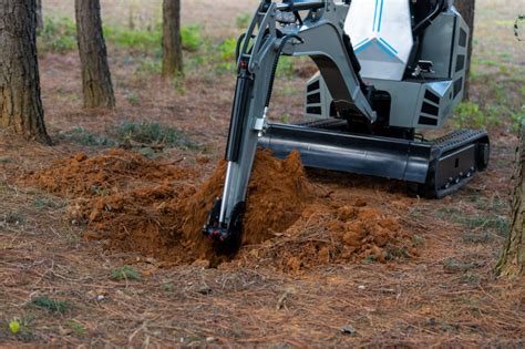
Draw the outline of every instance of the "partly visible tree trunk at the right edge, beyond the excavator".
M514 173L516 186L512 202L512 228L503 247L496 271L500 276L519 277L525 275L525 123L519 132L517 163Z

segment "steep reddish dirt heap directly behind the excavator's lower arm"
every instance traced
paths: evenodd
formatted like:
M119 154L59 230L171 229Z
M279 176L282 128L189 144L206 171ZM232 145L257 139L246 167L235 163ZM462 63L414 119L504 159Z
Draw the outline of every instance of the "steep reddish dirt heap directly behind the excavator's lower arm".
M184 230L194 234L212 209L224 187L226 163L220 162L212 177L184 205L187 220ZM257 152L244 219L243 244L260 244L286 230L302 213L311 198L300 155L294 152L281 161L268 151Z

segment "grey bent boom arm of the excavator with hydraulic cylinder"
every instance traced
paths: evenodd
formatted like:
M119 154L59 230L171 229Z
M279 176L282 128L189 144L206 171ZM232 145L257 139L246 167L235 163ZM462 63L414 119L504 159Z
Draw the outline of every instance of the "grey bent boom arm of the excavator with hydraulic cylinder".
M281 54L308 55L328 82L340 110L375 121L353 50L344 37L349 1L262 0L244 35L237 59L238 75L226 148L227 173L203 233L217 242L240 234L248 181L267 113ZM305 19L300 11L308 11Z

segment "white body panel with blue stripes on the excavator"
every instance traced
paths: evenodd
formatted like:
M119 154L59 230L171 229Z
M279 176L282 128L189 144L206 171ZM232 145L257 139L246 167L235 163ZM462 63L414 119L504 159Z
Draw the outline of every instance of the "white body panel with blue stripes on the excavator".
M352 0L344 31L364 79L403 79L414 43L409 0Z

